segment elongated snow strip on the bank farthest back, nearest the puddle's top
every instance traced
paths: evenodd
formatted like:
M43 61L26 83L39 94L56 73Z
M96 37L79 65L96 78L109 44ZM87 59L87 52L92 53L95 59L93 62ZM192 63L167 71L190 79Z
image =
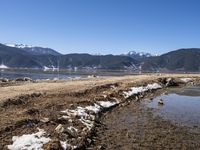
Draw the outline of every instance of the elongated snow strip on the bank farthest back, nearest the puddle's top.
M146 92L148 90L156 90L162 88L161 85L158 83L148 84L147 86L140 86L140 87L132 87L130 91L124 92L125 98L128 98L132 95L136 95L142 92Z

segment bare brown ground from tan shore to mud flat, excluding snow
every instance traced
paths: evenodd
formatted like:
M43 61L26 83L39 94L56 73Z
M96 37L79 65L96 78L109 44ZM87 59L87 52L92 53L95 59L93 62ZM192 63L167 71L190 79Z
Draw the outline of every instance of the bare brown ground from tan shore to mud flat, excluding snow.
M143 96L101 114L95 128L81 138L71 134L62 137L55 131L59 124L68 125L58 119L62 110L90 105L97 99L120 99L121 95L117 94L121 91L158 82L158 78L164 77L199 78L199 75L151 74L4 84L0 87L0 149L7 149L13 136L34 133L38 127L45 129L55 141L72 139L70 142L80 145L79 149L199 149L200 131L193 132L155 117L152 109L141 105ZM44 146L44 149L50 148L48 144Z

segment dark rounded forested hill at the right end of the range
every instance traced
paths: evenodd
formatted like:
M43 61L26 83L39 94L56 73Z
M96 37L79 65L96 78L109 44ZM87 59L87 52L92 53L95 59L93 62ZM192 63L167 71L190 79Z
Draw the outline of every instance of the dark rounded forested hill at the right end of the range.
M141 62L142 70L200 71L200 49L179 49Z

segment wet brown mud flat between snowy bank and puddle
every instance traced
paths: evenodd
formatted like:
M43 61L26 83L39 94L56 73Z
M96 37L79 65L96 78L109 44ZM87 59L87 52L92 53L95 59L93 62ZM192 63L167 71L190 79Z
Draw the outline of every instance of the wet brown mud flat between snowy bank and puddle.
M200 127L182 126L156 116L141 101L114 108L101 122L103 125L96 128L95 140L88 149L200 149Z

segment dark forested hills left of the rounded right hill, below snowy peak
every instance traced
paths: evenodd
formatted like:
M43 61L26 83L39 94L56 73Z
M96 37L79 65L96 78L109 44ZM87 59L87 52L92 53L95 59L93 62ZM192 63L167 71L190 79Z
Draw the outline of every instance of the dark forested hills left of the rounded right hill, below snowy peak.
M31 47L29 47L31 48ZM31 53L27 47L6 46L0 44L0 62L8 67L20 68L104 68L137 69L138 61L127 56L89 54L52 54Z

